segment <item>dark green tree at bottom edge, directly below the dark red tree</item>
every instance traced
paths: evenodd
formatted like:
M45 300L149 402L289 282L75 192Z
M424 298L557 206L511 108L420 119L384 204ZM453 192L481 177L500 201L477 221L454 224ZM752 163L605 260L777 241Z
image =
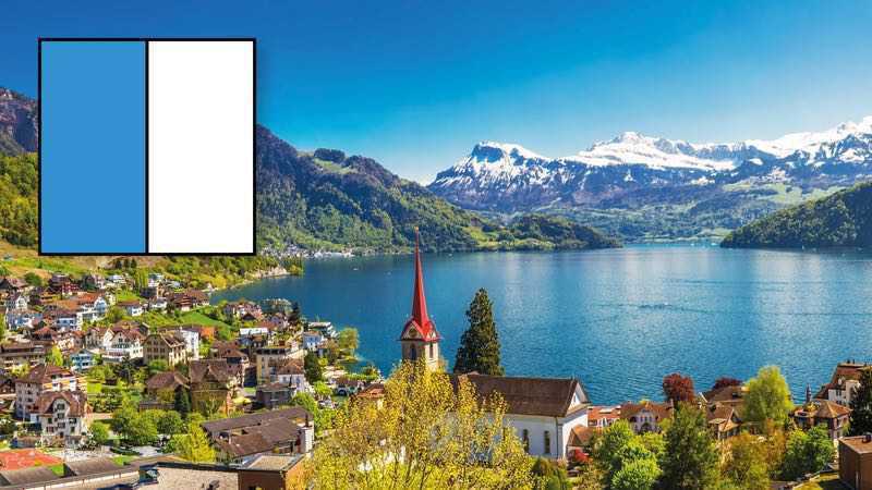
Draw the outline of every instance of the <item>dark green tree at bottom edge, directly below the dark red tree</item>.
M714 488L720 461L708 433L705 415L691 405L679 405L664 434L661 485L674 490Z

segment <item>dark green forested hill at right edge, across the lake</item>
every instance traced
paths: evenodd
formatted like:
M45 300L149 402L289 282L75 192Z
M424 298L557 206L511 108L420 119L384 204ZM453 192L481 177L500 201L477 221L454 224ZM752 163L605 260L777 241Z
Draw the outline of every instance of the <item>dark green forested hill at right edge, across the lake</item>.
M734 231L726 248L872 247L872 183L777 211Z

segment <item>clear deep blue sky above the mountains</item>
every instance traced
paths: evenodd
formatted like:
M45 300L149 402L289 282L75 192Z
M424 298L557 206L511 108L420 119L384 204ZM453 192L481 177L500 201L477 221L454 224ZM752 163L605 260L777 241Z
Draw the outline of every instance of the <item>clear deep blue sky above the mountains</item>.
M872 114L867 1L3 2L0 86L37 37L257 38L257 117L429 182L481 140L562 157L625 131L775 138Z

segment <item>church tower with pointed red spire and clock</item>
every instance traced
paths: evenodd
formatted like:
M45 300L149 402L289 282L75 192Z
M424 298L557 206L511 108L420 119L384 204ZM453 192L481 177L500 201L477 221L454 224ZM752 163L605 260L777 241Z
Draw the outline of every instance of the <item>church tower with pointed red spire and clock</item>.
M412 317L405 322L400 335L402 359L416 362L423 358L427 369L441 368L439 360L439 332L427 315L427 301L424 297L424 272L421 269L421 250L417 230L415 230L415 285L412 293Z

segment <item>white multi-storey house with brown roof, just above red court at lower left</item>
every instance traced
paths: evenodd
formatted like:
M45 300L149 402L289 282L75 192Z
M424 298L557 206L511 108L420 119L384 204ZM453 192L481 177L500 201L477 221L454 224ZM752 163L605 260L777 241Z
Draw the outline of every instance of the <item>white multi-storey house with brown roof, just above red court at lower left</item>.
M36 407L44 444L62 442L65 446L74 446L87 431L88 403L82 391L45 392L37 399Z

